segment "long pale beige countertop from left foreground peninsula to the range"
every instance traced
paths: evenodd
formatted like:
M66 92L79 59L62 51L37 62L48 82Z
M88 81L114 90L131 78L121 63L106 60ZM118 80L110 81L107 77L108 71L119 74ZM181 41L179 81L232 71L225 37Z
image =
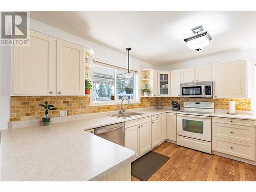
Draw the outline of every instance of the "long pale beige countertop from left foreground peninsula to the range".
M173 111L150 109L140 112L145 115L122 119L102 114L49 126L3 130L1 180L98 180L132 162L135 152L84 130Z

